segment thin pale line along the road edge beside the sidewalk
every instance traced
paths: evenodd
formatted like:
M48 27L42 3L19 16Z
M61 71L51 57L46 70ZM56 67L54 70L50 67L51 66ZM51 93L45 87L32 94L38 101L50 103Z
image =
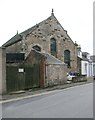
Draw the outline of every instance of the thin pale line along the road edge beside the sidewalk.
M89 85L89 84L92 84L92 83L88 83L88 84L83 84L81 86L85 86L85 85ZM10 99L10 100L4 100L4 101L0 101L0 104L2 103L7 103L7 102L13 102L13 101L18 101L18 100L23 100L23 99L28 99L28 98L32 98L32 97L37 97L37 96L41 96L41 95L47 95L47 94L50 94L50 93L55 93L55 92L60 92L60 91L64 91L64 90L68 90L68 89L72 89L72 88L75 88L75 87L79 87L80 85L77 85L77 86L71 86L71 87L68 87L68 88L63 88L63 89L58 89L58 90L53 90L53 91L45 91L43 93L38 93L38 94L35 94L35 95L26 95L25 97L18 97L18 98L13 98L13 99Z

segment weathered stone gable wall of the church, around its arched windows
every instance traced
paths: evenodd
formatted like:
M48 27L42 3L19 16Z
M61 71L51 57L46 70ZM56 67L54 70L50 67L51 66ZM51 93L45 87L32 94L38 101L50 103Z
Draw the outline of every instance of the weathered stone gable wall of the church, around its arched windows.
M70 68L67 68L68 72L77 72L77 45L74 43L67 31L58 22L54 13L49 18L36 24L34 27L15 35L17 41L11 44L5 44L7 52L25 52L27 57L33 46L39 46L42 53L49 53L50 40L54 38L56 40L57 58L64 62L64 51L70 51ZM14 37L14 38L15 38ZM12 38L13 39L13 38Z

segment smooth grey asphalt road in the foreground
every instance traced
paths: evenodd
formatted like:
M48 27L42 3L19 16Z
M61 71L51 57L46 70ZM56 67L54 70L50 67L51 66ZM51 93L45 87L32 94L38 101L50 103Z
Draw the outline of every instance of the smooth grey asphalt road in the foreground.
M3 118L93 118L93 83L2 104Z

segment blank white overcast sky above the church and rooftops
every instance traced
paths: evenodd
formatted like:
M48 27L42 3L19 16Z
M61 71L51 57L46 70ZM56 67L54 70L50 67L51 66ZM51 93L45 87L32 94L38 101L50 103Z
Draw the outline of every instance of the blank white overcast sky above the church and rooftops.
M82 52L93 54L93 0L0 0L0 46L54 15Z

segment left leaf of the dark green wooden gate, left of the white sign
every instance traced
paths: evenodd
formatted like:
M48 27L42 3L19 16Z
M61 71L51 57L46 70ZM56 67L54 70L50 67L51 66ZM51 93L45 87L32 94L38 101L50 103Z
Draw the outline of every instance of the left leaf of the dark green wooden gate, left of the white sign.
M7 92L23 90L24 81L24 72L19 72L18 66L6 67Z

